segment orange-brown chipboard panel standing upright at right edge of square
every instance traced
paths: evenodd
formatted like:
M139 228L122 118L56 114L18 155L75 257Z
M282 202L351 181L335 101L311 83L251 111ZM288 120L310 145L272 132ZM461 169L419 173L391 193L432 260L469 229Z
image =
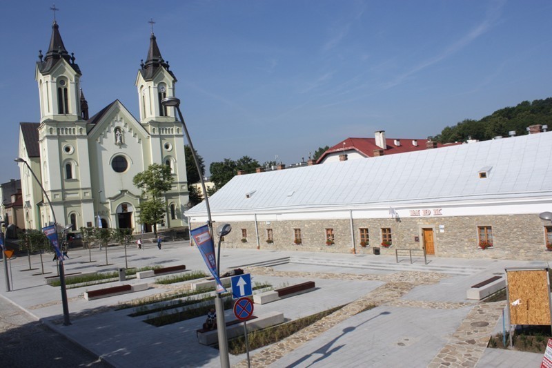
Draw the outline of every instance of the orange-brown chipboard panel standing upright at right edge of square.
M550 325L548 272L508 270L506 277L511 325Z

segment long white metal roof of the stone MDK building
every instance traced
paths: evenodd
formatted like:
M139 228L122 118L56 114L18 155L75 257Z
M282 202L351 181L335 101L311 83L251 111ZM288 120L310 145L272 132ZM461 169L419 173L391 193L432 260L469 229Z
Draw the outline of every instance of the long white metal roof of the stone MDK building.
M237 175L210 197L217 213L301 211L552 195L552 132ZM480 171L491 167L486 178ZM205 204L186 215L204 215Z

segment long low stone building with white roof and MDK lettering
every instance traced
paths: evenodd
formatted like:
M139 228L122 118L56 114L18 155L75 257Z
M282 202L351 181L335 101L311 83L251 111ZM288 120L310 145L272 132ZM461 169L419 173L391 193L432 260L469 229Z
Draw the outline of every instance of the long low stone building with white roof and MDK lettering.
M215 228L230 223L223 244L237 248L552 260L539 216L552 211L552 133L540 131L237 175L210 197ZM204 224L204 203L187 215Z

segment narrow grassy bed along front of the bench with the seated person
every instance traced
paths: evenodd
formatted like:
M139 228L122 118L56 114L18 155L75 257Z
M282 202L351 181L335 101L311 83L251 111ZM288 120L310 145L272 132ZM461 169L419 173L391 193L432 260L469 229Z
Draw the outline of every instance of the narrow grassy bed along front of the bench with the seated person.
M273 344L280 340L284 340L288 336L293 335L297 331L301 331L305 327L313 325L313 323L322 320L322 318L329 316L331 313L342 309L344 305L322 311L311 316L299 318L298 320L283 323L275 327L269 327L268 329L262 329L248 333L249 349L259 349L259 347L265 347L266 345ZM244 354L246 352L246 344L244 336L235 338L228 341L228 351L230 354Z

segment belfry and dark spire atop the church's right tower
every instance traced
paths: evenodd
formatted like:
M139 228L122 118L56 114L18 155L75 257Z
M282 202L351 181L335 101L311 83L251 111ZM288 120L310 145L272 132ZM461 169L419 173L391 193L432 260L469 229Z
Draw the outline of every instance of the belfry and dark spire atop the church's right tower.
M175 109L162 106L161 100L175 95L177 79L169 70L168 61L161 57L153 32L150 35L150 49L146 63L142 60L140 67L136 78L140 124L148 124L152 120L174 122Z

